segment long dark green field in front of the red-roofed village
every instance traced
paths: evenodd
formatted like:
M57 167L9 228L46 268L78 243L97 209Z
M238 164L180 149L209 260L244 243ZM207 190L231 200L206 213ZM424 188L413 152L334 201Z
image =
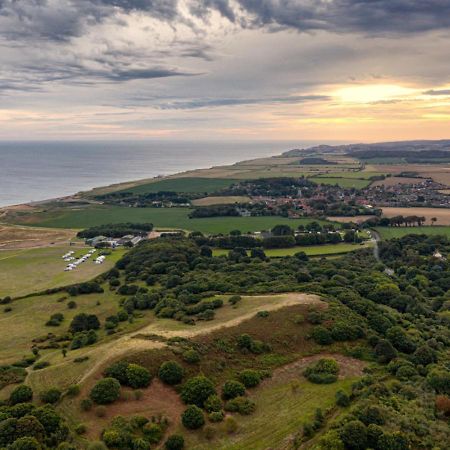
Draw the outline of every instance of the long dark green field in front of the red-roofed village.
M268 230L278 224L287 224L297 228L314 219L288 219L278 216L267 217L212 217L189 219L189 208L125 208L120 206L95 206L90 208L67 210L59 209L19 220L32 222L34 226L54 228L88 228L96 225L120 222L153 223L155 227L201 231L203 233L229 233L240 230ZM326 223L326 222L322 222Z

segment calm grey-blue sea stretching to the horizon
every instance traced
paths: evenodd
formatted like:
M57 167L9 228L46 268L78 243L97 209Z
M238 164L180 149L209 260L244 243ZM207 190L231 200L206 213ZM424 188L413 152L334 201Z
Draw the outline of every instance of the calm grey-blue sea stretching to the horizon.
M272 156L317 142L0 142L0 206Z

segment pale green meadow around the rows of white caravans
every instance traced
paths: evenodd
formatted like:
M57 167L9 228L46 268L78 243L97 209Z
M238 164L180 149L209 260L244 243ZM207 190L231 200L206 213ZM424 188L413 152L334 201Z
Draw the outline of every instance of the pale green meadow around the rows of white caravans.
M67 263L61 258L69 250L75 257L87 253L88 248L54 246L35 249L0 251L0 297L19 297L68 284L88 281L113 267L125 250L114 250L103 264L90 258L76 270L64 272Z

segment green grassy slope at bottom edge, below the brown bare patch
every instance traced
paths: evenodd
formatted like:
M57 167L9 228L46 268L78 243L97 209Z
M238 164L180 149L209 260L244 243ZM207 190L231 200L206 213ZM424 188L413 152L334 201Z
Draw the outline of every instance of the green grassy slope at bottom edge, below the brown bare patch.
M349 392L354 381L356 378L348 378L328 385L300 381L296 393L292 392L289 382L270 383L269 387L259 388L255 394L250 394L256 401L256 411L250 416L236 416L239 424L236 433L226 434L221 424L214 427L217 437L212 441L199 433L185 433L187 447L197 450L282 448L280 443L313 420L317 408L322 411L332 408L336 391L342 389Z

